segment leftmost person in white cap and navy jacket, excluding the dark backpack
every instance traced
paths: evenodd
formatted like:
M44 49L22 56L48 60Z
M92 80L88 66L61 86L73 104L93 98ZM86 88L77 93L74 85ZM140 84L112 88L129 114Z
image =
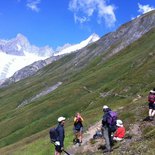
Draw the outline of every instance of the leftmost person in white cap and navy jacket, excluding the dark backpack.
M55 142L55 155L61 155L61 152L64 150L64 138L65 138L65 131L64 131L64 124L65 124L65 117L58 118L58 126L56 128L58 137Z

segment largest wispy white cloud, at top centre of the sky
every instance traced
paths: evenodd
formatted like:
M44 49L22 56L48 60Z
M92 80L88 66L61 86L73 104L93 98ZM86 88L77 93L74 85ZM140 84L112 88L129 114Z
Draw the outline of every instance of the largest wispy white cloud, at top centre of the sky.
M115 7L107 5L107 0L70 0L69 10L74 13L75 22L85 23L91 20L93 15L97 15L97 22L103 21L107 27L114 26L116 22Z

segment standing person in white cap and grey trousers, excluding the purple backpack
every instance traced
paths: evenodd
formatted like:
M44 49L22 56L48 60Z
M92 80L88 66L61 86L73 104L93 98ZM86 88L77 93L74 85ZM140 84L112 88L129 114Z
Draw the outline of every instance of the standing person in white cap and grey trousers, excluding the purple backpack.
M103 106L103 119L102 119L102 133L103 133L103 137L105 139L105 150L103 151L103 153L106 152L111 152L112 149L112 145L113 145L113 141L112 141L112 137L111 134L112 132L115 131L116 129L116 119L117 119L117 115L115 113L115 120L113 120L113 124L111 125L109 122L109 118L110 118L110 112L113 112L107 105Z

